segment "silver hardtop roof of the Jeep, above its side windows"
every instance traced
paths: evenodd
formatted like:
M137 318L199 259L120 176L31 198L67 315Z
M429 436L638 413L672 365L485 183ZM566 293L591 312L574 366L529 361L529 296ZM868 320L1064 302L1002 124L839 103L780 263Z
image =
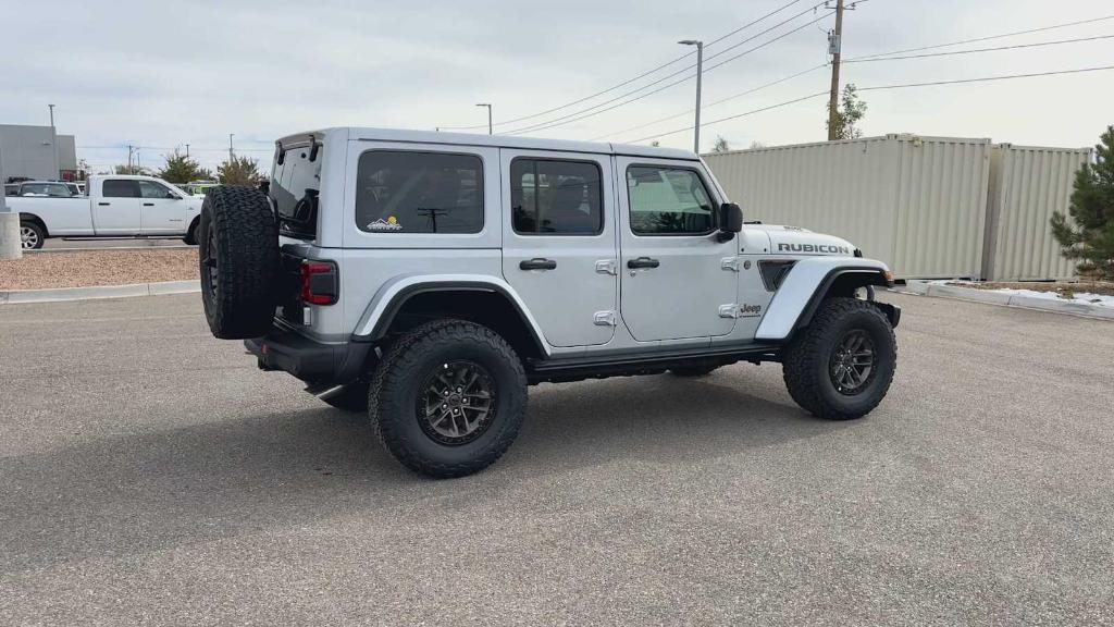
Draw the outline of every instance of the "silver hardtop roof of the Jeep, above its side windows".
M677 158L697 161L694 153L677 148L656 146L639 146L635 144L612 144L604 142L574 142L569 139L545 139L540 137L522 137L520 135L482 135L479 133L444 133L436 131L410 131L400 128L364 128L334 127L320 131L306 131L287 135L280 139L284 146L307 142L312 134L319 139L330 133L346 132L353 141L400 142L414 144L450 144L460 146L491 146L499 148L519 148L529 151L559 151L575 153L596 153L644 156L654 158Z

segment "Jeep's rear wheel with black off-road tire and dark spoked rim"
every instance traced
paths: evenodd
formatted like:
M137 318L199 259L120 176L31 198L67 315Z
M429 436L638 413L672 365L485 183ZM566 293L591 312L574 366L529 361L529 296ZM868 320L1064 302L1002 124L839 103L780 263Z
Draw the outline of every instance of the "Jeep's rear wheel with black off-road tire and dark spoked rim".
M375 433L409 469L463 476L498 460L526 416L526 374L507 341L463 320L417 327L388 349L369 394Z

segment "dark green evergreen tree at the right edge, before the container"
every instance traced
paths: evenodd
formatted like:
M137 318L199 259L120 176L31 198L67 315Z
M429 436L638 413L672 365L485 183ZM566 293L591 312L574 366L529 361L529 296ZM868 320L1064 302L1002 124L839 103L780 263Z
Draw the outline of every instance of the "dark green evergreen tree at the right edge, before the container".
M1095 145L1095 163L1075 173L1075 189L1067 208L1052 215L1052 234L1064 257L1078 259L1081 274L1114 280L1114 126L1107 126Z

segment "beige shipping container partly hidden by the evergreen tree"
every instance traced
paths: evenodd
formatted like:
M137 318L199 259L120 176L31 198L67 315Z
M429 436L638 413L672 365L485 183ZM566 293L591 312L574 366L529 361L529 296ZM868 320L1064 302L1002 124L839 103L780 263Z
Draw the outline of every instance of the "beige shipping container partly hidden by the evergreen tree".
M1075 277L1076 262L1061 254L1048 220L1053 212L1067 213L1075 173L1089 160L1091 148L994 146L984 259L986 280Z

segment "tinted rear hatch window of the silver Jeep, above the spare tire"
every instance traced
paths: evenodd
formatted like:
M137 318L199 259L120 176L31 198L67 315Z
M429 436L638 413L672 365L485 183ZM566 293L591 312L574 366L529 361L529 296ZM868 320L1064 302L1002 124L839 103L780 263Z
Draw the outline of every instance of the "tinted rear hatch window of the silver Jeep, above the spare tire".
M278 232L289 238L317 237L317 194L325 146L321 139L277 146L267 194L278 214Z

